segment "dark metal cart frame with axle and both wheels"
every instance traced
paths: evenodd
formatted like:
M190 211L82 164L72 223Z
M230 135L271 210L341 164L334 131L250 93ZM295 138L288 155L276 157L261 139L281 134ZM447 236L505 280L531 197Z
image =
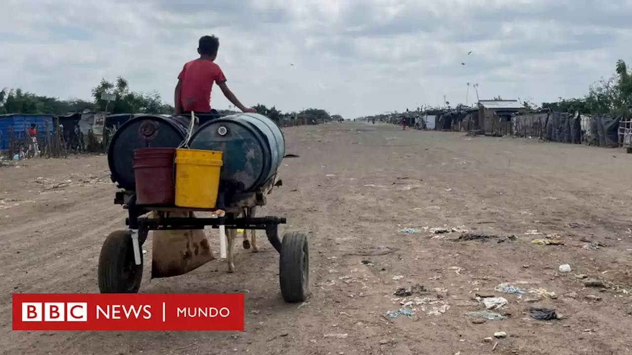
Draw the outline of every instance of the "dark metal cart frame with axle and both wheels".
M282 186L281 179L273 176L260 190L231 196L231 204L224 207L224 193L218 195L218 208L181 208L173 205L137 205L135 191L118 191L114 203L128 211L125 220L128 229L115 231L107 236L99 257L99 289L102 293L136 293L142 281L143 257L140 252L149 231L204 229L250 229L265 231L265 235L280 254L279 286L281 296L288 303L304 302L309 294L309 248L307 235L298 232L279 238L279 225L286 224L284 217L238 217L244 208L264 206L266 195L275 186ZM213 218L170 217L169 212L215 212L224 215ZM157 211L158 218L142 217Z

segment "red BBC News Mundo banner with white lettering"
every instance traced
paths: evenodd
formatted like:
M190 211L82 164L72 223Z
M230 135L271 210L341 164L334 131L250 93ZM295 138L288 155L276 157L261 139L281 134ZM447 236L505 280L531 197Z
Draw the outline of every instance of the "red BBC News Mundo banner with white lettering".
M243 330L243 317L243 294L13 294L13 330Z

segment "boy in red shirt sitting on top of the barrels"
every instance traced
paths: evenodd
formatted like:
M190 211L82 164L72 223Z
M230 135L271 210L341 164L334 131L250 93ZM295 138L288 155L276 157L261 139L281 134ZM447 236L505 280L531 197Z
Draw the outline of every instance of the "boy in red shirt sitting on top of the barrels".
M255 109L245 107L234 93L226 85L226 76L214 63L219 49L219 39L215 36L200 38L198 53L200 57L185 64L178 75L178 85L174 97L176 114L183 112L210 112L210 92L213 83L221 88L222 93L233 105L242 112L257 112Z

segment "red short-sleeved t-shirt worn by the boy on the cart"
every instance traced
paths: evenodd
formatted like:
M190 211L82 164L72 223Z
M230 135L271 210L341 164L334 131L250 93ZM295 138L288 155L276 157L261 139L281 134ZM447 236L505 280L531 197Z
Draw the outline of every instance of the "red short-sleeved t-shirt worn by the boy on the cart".
M185 64L178 79L182 80L180 100L183 111L210 111L213 83L226 82L219 65L207 59L194 59Z

